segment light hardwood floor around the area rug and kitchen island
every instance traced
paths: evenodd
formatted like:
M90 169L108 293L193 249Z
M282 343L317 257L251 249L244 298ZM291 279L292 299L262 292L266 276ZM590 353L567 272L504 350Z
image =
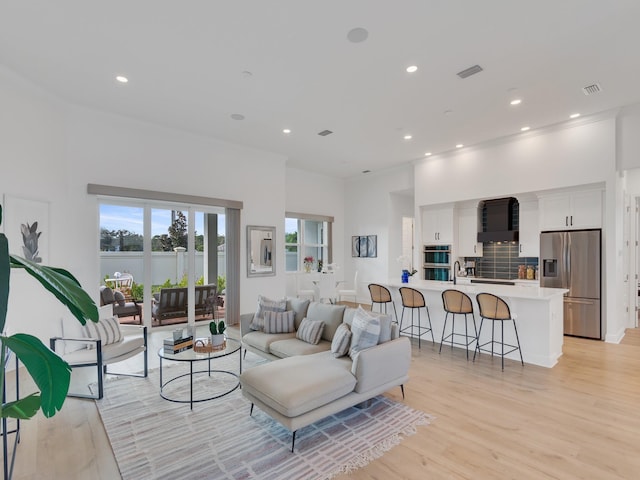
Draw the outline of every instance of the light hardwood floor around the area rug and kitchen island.
M504 372L497 358L472 363L423 342L410 375L404 401L431 425L340 478L640 478L637 329L620 345L565 337L554 368L507 361ZM402 401L400 389L388 395ZM14 478L120 478L93 401L70 398L55 417L24 422Z

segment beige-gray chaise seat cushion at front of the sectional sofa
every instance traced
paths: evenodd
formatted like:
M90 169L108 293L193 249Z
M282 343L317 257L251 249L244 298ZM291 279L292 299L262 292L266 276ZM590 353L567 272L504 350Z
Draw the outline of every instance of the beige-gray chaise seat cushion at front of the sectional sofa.
M331 352L291 357L245 370L242 388L286 417L296 417L351 393L350 363Z

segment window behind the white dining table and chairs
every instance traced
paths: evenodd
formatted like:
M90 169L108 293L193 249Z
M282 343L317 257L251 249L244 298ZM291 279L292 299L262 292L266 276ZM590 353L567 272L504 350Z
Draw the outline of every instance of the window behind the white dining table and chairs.
M287 213L285 218L285 270L297 272L303 269L305 257L323 264L332 262L331 224L333 217Z

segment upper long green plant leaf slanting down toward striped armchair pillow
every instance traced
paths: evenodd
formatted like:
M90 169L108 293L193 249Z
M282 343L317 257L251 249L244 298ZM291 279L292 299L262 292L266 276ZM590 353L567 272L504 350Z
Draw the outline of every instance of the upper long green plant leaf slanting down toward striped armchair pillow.
M11 266L24 268L73 313L81 324L98 321L98 307L76 278L62 268L47 267L16 255L9 255Z

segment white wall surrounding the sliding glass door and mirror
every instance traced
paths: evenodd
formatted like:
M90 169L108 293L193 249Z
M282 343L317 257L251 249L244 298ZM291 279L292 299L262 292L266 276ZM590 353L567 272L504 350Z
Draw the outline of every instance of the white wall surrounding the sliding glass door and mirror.
M69 269L96 299L98 201L88 183L240 200L242 252L246 225L281 231L282 156L66 105L3 69L0 104L0 193L50 202L49 263ZM242 256L241 312L255 309L258 293L284 294L282 242L276 254L277 275L265 278L247 278ZM8 325L46 340L60 333L65 311L33 284L14 275Z

